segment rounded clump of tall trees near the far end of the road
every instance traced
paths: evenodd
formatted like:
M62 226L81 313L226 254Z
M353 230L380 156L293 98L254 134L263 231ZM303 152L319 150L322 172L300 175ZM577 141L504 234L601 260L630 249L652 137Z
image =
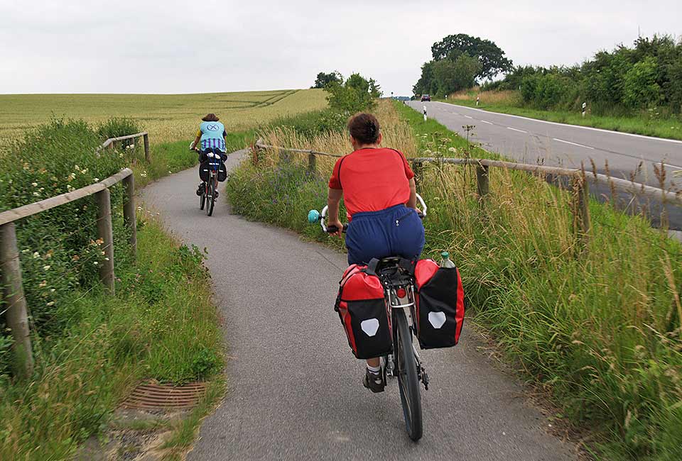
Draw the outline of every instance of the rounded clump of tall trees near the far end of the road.
M421 67L414 94L445 96L512 69L511 60L494 42L464 33L434 43L431 55L433 60Z

